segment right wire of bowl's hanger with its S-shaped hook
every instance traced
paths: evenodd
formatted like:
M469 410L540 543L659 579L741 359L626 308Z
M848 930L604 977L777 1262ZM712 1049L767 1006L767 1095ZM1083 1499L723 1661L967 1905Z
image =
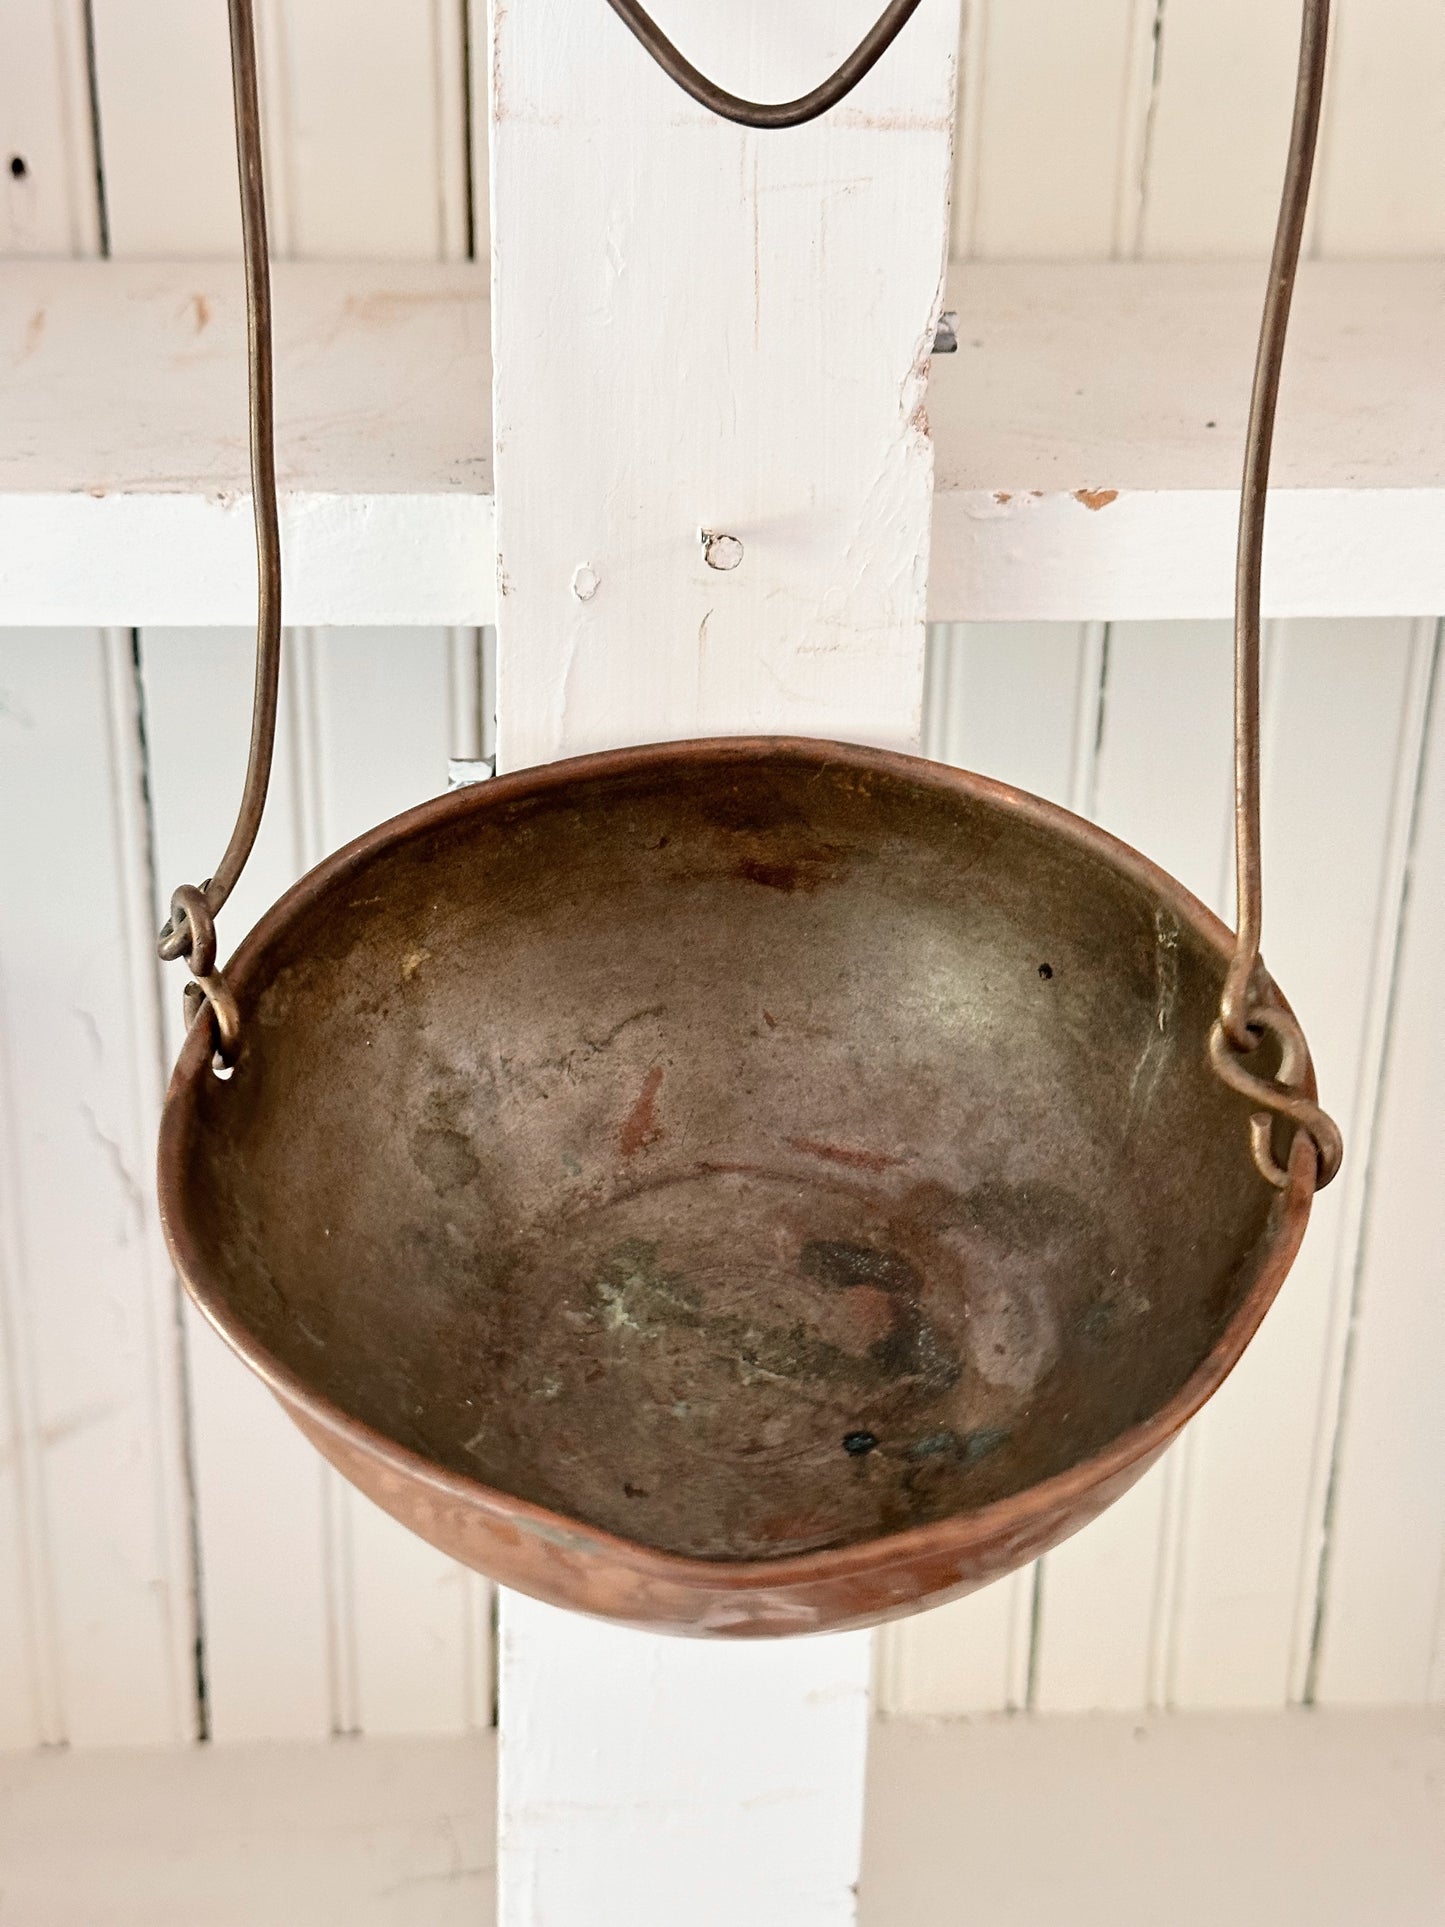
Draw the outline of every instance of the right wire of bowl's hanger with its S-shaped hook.
M1295 83L1295 118L1289 131L1289 162L1279 197L1270 285L1260 318L1254 356L1254 387L1248 401L1245 437L1245 480L1239 493L1239 549L1235 555L1235 877L1239 929L1235 954L1220 998L1220 1019L1210 1031L1210 1064L1218 1077L1250 1098L1260 1110L1250 1120L1250 1150L1260 1174L1272 1185L1289 1185L1289 1172L1274 1156L1274 1120L1283 1118L1314 1143L1316 1189L1339 1170L1343 1141L1337 1125L1306 1095L1310 1052L1299 1023L1277 1004L1256 994L1264 977L1260 938L1264 931L1264 884L1260 861L1260 580L1264 574L1264 509L1270 489L1270 451L1279 401L1279 370L1285 358L1289 304L1304 237L1304 210L1320 135L1324 96L1329 0L1304 0ZM1266 979L1268 983L1268 979ZM1281 1046L1279 1071L1260 1077L1245 1066L1266 1037ZM1291 1150L1293 1164L1293 1150Z

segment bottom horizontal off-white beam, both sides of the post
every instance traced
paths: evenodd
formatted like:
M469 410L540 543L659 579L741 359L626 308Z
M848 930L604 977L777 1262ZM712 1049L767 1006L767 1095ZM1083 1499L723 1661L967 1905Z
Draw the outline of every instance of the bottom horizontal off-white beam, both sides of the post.
M888 1721L863 1927L1435 1927L1430 1713ZM0 1761L23 1927L491 1927L493 1742ZM87 1852L75 1852L75 1840ZM10 1912L0 1915L10 1921Z

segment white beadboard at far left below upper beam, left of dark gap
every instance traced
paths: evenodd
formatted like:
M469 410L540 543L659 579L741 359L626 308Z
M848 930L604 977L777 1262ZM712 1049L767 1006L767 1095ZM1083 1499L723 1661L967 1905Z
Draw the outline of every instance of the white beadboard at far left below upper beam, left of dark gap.
M183 1740L191 1572L175 1297L146 1210L160 1056L129 638L0 632L0 1291L23 1432L0 1484L12 1534L19 1488L25 1605L46 1615L21 1642L35 1736Z

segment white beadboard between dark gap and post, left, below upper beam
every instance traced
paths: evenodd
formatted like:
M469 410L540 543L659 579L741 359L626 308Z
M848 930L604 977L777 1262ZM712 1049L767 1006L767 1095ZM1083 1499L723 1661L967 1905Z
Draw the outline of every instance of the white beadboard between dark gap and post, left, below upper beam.
M162 892L229 831L250 715L250 636L143 638ZM326 850L445 788L443 630L289 630L262 836L222 952ZM175 1041L183 973L168 973ZM218 1738L462 1730L486 1717L489 1599L306 1445L191 1314L206 1682ZM482 1659L478 1661L478 1653Z

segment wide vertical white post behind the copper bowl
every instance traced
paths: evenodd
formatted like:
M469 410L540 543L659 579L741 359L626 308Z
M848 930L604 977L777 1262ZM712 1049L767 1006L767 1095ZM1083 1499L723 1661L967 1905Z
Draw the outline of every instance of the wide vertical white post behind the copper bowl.
M659 8L753 98L811 87L875 12ZM605 0L493 0L503 769L917 742L956 46L958 0L925 0L825 121L748 133ZM867 1675L867 1634L659 1640L507 1596L503 1927L844 1927Z

